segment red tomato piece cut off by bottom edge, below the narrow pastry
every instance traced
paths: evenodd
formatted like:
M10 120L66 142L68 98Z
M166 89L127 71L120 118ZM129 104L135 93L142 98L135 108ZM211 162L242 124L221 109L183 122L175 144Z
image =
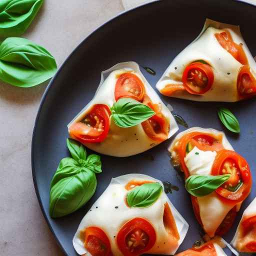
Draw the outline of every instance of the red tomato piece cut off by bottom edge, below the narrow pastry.
M217 256L217 252L212 242L206 242L200 247L192 247L191 249L185 250L176 256Z

